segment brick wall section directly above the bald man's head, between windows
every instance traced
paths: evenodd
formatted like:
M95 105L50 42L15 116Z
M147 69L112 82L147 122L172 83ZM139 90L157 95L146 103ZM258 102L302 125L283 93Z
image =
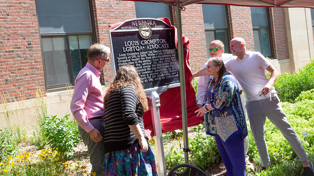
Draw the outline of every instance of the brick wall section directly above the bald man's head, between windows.
M250 7L228 6L231 39L241 37L246 49L255 51Z

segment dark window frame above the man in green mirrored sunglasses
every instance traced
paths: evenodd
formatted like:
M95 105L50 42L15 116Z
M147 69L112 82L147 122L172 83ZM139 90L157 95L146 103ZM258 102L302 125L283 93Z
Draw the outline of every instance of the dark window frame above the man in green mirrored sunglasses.
M203 10L203 9L202 9ZM229 11L228 11L228 6L225 5L225 14L226 14L226 23L227 23L227 28L205 28L204 27L204 32L206 33L206 31L214 31L214 38L215 40L217 39L217 36L216 36L216 31L217 30L225 30L226 33L227 33L227 43L224 44L225 47L227 46L227 49L225 49L225 52L224 53L227 53L227 54L231 54L231 51L230 51L230 41L231 41L231 30L230 30L230 21L229 21ZM206 42L206 39L205 39L205 42ZM209 49L209 46L207 47L207 50ZM227 51L226 51L227 50ZM207 52L207 51L206 51Z

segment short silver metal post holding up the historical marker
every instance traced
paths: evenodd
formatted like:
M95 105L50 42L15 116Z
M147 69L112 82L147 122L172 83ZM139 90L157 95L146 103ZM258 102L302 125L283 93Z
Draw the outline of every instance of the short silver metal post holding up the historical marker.
M160 114L159 114L159 95L156 92L150 94L149 105L152 113L152 122L154 129L155 148L157 155L157 167L159 175L167 175L165 153L164 153L164 142L162 140Z

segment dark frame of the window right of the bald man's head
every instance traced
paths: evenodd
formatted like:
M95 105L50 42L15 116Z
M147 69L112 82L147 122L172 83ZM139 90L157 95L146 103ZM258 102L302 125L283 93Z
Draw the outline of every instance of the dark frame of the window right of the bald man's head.
M258 36L259 36L259 41L260 41L261 46L262 46L262 39L261 39L261 30L260 29L268 29L268 37L269 37L269 45L270 45L269 47L270 47L271 57L269 57L269 56L267 56L267 57L268 57L268 59L275 59L275 52L274 52L274 46L273 46L273 30L272 30L272 24L271 24L271 20L270 20L269 7L266 7L266 14L267 14L268 26L267 27L266 26L253 27L253 25L252 25L252 28L253 28L253 31L258 30ZM253 39L254 39L254 37L253 37ZM254 45L254 50L255 50L255 45ZM262 53L261 54L263 54L263 46L262 46Z

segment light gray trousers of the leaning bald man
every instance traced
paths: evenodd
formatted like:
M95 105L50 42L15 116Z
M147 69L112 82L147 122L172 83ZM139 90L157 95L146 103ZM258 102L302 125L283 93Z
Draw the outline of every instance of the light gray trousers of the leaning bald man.
M264 134L266 116L279 129L282 135L284 135L300 161L306 161L308 159L298 135L287 121L277 96L272 97L272 101L263 99L260 101L247 102L246 111L263 167L270 165Z

